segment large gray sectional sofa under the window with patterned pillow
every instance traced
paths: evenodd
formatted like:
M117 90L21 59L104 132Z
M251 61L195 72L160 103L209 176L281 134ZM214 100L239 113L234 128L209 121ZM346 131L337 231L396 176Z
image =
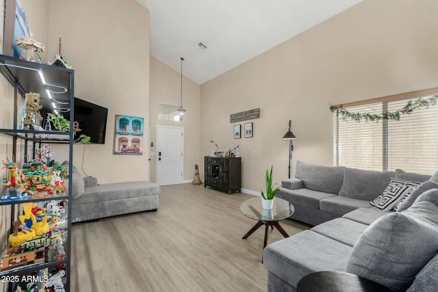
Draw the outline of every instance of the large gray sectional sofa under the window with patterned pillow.
M305 212L299 213L298 220L322 223L265 248L263 263L268 269L268 291L296 291L299 280L315 271L356 274L394 291L437 291L438 172L431 177L401 170L376 175L363 170L333 168L337 172L335 175L329 174L331 167L300 164L296 174L302 179L283 182L283 198L293 202L298 212L300 208L311 210L310 220L305 217ZM344 174L349 172L342 180L339 178L341 170L344 170ZM322 176L323 173L327 176ZM359 173L362 174L357 176L357 180L348 181L353 174ZM387 191L379 181L389 184L389 176L396 174L401 179L414 178L418 181L429 177L429 180L412 187L408 196L398 204L397 211L372 207L369 203L375 198L370 194L379 196L378 191ZM321 183L309 181L309 178L318 176ZM330 183L329 176L337 178L337 184L333 181ZM371 178L374 181L368 181ZM366 185L359 184L365 181ZM326 189L319 189L324 184ZM294 190L289 188L285 191L285 186L294 186L292 188L297 189L297 198L294 198ZM345 196L346 193L341 192L343 187L344 191L352 193ZM337 188L339 190L334 194ZM285 194L289 196L285 197ZM311 194L315 195L319 204L306 198ZM370 197L351 197L359 194L368 194ZM330 198L332 204L321 204ZM334 202L339 205L335 206ZM365 202L368 205L363 204Z

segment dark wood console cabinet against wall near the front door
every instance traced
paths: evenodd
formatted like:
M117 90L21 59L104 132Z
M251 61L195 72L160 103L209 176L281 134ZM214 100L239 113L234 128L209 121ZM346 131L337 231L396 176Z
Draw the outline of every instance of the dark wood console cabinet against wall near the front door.
M204 157L204 187L240 192L240 157Z

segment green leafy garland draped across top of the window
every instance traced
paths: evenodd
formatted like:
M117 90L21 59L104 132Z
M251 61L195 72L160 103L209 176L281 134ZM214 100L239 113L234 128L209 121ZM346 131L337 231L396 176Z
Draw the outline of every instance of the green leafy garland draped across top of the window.
M342 105L339 107L332 105L330 110L332 112L336 111L337 116L342 116L344 120L355 120L356 122L360 122L361 120L365 120L365 122L376 121L379 120L400 120L400 115L402 114L411 114L415 109L420 109L421 107L429 107L430 105L436 105L438 100L438 94L431 96L430 98L418 98L415 102L408 101L407 105L405 105L402 109L398 111L386 111L381 115L370 114L370 113L350 113L350 111L342 108Z

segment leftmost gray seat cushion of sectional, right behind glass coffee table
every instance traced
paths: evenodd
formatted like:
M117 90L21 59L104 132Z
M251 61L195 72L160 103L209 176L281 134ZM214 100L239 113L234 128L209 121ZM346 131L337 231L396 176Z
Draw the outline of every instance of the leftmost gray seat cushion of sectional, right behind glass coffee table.
M282 188L276 194L277 197L285 199L292 204L300 204L302 206L320 209L320 200L336 195L322 193L321 191L313 191L311 189L285 189ZM336 196L337 197L337 196Z

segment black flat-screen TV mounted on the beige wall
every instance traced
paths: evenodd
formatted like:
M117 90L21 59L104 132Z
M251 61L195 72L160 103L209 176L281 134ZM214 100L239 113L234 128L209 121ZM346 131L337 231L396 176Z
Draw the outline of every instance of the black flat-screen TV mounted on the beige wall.
M76 137L90 136L92 144L105 144L108 109L75 97L74 120L79 123ZM70 118L66 113L66 118Z

